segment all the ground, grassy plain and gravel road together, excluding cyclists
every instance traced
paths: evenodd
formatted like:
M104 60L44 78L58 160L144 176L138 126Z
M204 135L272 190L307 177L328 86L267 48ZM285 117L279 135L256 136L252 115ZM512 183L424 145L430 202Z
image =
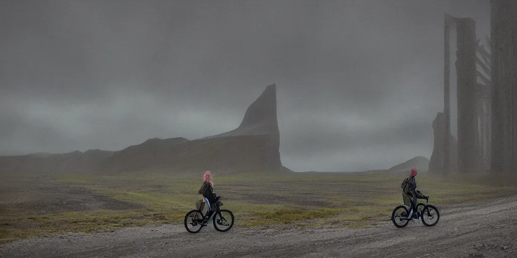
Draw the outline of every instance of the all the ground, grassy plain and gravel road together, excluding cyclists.
M0 257L517 256L515 187L422 173L418 188L442 217L397 229L389 219L404 177L216 175L234 228L190 234L196 176L0 174Z

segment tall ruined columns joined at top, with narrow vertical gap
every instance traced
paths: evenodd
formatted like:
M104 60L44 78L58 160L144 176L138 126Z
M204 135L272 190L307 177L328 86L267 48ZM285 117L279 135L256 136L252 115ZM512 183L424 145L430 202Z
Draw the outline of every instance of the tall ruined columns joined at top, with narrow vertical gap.
M479 151L481 143L480 133L484 124L480 123L479 106L480 94L477 87L477 44L476 23L471 18L455 18L445 15L444 26L444 113L438 114L436 121L441 123L443 116L444 126L435 128L435 143L431 158L430 170L434 172L478 172L481 164ZM458 143L451 142L450 134L450 31L451 27L457 34L457 100L458 100ZM484 132L484 131L483 131ZM448 137L445 137L448 136ZM443 139L443 143L436 142ZM456 149L456 154L452 154ZM454 159L454 160L453 160ZM440 160L440 161L438 161ZM451 163L455 165L452 167ZM438 164L439 163L439 164ZM441 168L441 169L438 169Z

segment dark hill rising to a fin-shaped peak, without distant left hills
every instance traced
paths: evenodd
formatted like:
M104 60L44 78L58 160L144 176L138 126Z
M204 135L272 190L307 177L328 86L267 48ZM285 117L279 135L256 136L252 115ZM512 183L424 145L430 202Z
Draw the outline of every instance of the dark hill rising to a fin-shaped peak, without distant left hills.
M104 171L171 171L221 173L292 172L280 160L276 85L248 107L240 125L230 132L196 140L155 140L131 146L108 159Z

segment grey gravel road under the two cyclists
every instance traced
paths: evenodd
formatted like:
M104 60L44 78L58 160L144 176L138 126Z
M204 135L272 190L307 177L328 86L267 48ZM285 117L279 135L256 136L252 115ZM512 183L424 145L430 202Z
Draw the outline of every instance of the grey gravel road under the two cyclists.
M233 228L183 225L42 237L0 246L0 257L517 257L517 196L440 206L434 227ZM238 219L238 217L236 218Z

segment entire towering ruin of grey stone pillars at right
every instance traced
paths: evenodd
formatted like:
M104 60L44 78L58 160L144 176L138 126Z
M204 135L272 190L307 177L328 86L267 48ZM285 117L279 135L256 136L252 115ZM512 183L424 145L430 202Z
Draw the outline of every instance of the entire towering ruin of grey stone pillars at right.
M517 1L491 0L491 53L478 47L481 58L474 64L475 23L469 18L445 19L444 134L450 132L449 31L458 37L458 170L460 172L512 173L517 171ZM435 135L442 135L436 132ZM444 152L453 147L444 138ZM440 153L436 142L435 153ZM438 154L437 154L438 155ZM439 155L438 155L439 156ZM438 157L437 156L437 157ZM445 155L444 171L450 171ZM451 155L452 158L452 155ZM433 161L434 160L434 161ZM431 163L437 162L431 158ZM439 164L438 164L439 165ZM430 164L430 167L439 167Z

